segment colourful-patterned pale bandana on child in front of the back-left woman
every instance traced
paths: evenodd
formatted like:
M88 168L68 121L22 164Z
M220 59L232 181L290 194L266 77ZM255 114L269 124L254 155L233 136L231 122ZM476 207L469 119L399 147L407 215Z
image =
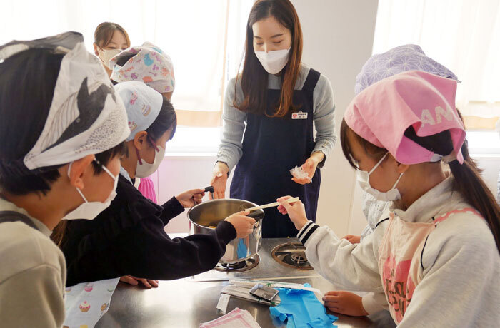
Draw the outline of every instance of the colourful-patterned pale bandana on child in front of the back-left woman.
M124 66L116 62L124 56L135 55ZM170 57L153 43L144 42L133 46L109 61L111 80L116 82L142 81L159 93L171 92L175 88L174 64Z

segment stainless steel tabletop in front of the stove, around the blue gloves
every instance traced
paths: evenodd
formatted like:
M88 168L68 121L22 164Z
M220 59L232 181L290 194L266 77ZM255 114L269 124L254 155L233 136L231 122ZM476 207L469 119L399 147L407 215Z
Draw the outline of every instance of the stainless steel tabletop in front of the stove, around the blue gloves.
M323 280L321 278L321 280ZM326 280L283 280L288 282L309 282L321 290L329 289ZM216 319L216 304L219 292L227 282L189 282L188 280L162 281L156 289L144 289L119 284L113 294L109 312L99 320L97 328L111 327L199 327L201 322ZM326 289L325 289L326 288ZM249 311L262 328L286 327L273 323L269 307L231 297L228 312L239 307ZM349 317L335 314L339 327L396 327L389 312L379 312L369 317Z

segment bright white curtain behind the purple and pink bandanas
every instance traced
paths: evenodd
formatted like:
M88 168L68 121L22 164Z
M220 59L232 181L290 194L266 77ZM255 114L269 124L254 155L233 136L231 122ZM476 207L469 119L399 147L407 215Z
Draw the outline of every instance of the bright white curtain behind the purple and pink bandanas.
M469 128L500 116L500 0L379 0L374 53L415 43L456 73Z

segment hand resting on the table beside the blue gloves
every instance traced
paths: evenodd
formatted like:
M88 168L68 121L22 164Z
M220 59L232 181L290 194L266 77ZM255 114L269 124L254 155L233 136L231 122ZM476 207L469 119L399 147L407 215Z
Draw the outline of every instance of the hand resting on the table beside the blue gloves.
M324 306L331 312L361 317L369 313L363 307L361 296L351 292L327 292L323 297Z

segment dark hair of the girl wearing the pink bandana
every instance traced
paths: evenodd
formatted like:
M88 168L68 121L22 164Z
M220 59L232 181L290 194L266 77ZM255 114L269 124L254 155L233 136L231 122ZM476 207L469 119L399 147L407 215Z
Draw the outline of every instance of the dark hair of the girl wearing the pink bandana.
M459 116L461 118L460 112ZM381 156L387 152L386 149L379 148L354 133L347 125L345 119L343 119L340 128L342 151L349 161L349 164L355 169L359 168L354 164L351 157L351 147L347 139L349 134L353 135L364 148L366 154L373 158L380 159ZM404 132L404 135L415 143L439 155L448 155L453 150L453 143L449 130L427 137L419 137L416 135L414 128L409 127ZM491 193L491 190L489 190L488 186L479 175L481 170L479 170L476 163L469 155L467 140L465 140L461 150L462 155L464 155L464 163L460 164L458 160L449 163L451 174L454 176L454 190L458 190L459 193L464 196L466 202L472 205L484 217L493 234L496 247L500 252L500 206L496 203L493 193Z

